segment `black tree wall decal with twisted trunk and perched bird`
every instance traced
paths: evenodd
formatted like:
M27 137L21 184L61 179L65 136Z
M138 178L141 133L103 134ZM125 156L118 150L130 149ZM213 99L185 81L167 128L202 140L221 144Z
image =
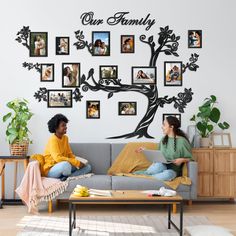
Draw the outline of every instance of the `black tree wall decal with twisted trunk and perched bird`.
M85 40L83 31L76 31L75 37L77 38L77 42L74 43L77 49L87 48L89 53L92 54L92 44ZM156 66L157 59L161 53L165 55L173 55L178 57L177 53L180 36L176 36L172 30L169 29L169 26L165 28L160 28L160 33L158 37L158 46L154 42L154 37L146 37L145 35L140 36L141 42L149 45L151 49L151 57L149 61L149 66ZM183 64L182 73L185 73L187 69L190 71L196 71L199 66L196 64L198 60L198 56L196 53L191 54L189 62ZM157 109L159 107L164 107L165 104L174 104L174 108L178 109L180 113L184 112L184 108L186 108L187 103L192 100L192 89L184 89L183 93L178 93L177 96L169 97L159 97L158 89L156 85L129 85L121 83L121 79L99 79L98 81L94 78L94 70L90 69L87 78L85 75L81 77L81 86L84 92L91 91L105 91L108 92L108 99L113 96L114 93L119 92L138 92L143 94L148 99L148 107L145 115L138 123L136 129L133 132L109 137L110 139L118 139L118 138L132 138L132 137L146 137L146 138L154 138L148 133L148 128L152 123Z

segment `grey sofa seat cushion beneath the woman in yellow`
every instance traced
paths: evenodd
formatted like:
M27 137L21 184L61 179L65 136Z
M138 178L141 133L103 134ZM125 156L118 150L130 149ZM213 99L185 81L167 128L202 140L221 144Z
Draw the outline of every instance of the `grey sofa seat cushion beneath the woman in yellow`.
M93 175L89 178L71 180L66 191L60 194L57 199L68 199L76 185L86 186L88 188L111 190L111 176Z

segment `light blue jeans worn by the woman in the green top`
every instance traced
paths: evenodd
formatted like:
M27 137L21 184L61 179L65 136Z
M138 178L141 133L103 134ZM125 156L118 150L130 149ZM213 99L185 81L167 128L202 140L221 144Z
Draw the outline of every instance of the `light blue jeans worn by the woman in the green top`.
M160 162L153 163L145 171L136 171L134 174L143 174L152 176L158 180L169 181L174 179L177 174L172 169L167 169L166 165Z

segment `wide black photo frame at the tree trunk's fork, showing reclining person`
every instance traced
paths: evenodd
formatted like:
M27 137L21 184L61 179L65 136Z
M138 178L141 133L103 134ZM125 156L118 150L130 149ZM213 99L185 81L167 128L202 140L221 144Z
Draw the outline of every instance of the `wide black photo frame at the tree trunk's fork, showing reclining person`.
M138 78L140 73L143 78ZM132 84L154 85L156 84L157 68L155 66L132 66L131 75Z

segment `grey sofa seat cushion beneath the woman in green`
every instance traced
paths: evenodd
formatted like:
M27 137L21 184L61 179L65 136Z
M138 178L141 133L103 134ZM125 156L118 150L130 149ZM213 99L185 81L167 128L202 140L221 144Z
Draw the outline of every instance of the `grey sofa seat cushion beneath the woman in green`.
M170 188L163 181L156 179L146 179L140 177L112 176L112 189L118 190L157 190L160 187ZM189 185L179 185L177 192L189 192Z

